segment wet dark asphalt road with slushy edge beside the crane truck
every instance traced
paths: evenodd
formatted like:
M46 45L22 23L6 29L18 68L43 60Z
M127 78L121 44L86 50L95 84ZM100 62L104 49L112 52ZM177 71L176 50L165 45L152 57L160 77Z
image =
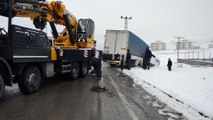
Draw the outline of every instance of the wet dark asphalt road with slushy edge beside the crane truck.
M119 77L103 65L108 91L92 92L92 76L69 81L54 78L32 95L7 87L0 102L0 120L182 120L177 113L149 95L129 77Z

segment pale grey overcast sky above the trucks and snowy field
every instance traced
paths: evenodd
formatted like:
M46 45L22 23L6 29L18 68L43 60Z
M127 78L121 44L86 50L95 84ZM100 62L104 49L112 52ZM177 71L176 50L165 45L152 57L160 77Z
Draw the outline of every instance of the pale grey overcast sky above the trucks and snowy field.
M95 21L99 49L103 48L106 29L124 29L121 16L133 18L129 21L129 30L148 44L156 40L175 40L174 36L190 41L213 40L213 0L62 1L77 19Z

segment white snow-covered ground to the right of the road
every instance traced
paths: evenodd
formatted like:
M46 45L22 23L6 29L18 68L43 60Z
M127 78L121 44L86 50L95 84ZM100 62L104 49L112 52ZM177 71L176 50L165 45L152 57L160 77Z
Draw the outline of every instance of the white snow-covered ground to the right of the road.
M124 73L190 120L213 120L213 67L177 65L176 53L171 51L154 54L159 66L135 67ZM168 58L173 61L172 71L167 70Z

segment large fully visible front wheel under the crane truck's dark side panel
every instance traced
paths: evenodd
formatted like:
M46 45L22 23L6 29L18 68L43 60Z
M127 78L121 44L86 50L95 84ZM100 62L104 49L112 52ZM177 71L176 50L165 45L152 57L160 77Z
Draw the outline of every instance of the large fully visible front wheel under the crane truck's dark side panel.
M39 90L41 73L36 66L28 66L19 77L18 86L22 93L31 94Z

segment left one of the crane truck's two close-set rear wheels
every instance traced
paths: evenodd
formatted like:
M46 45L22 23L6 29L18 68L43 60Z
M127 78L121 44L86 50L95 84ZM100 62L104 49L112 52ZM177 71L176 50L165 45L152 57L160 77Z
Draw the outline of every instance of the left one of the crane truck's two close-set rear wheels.
M79 64L77 62L73 62L71 66L70 77L72 80L78 79L79 76Z

